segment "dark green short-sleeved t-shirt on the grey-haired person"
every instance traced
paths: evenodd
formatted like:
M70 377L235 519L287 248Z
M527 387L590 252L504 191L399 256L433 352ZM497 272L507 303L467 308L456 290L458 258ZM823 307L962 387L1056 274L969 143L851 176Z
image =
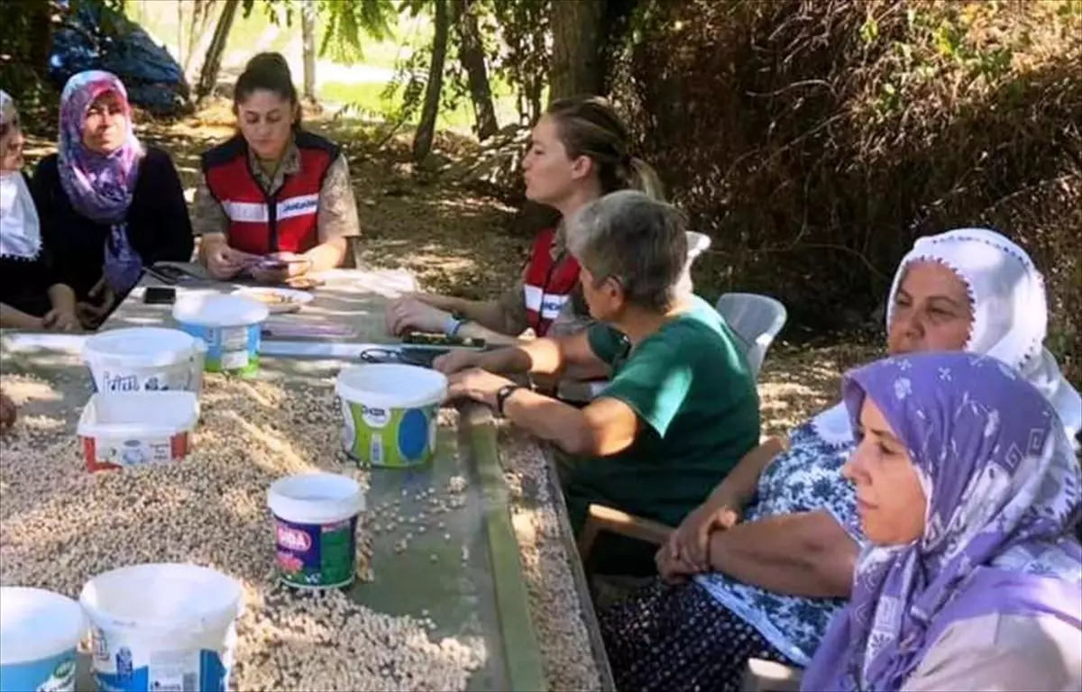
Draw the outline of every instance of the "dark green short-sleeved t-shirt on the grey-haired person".
M631 407L639 428L623 452L562 469L576 531L591 502L676 527L758 444L758 394L738 338L692 300L634 350L621 332L590 328L591 348L613 371L598 396Z

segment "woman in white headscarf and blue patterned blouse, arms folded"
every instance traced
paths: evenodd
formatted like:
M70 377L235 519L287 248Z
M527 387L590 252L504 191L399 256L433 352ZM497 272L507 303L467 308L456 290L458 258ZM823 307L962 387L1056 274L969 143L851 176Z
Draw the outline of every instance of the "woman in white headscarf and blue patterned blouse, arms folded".
M1044 350L1044 282L1003 236L922 238L892 285L892 355L989 354L1037 387L1073 437L1079 394ZM748 453L658 553L658 583L601 613L617 687L737 690L750 657L805 666L853 589L865 542L842 466L844 404ZM784 449L778 452L779 449ZM690 577L690 583L688 578Z

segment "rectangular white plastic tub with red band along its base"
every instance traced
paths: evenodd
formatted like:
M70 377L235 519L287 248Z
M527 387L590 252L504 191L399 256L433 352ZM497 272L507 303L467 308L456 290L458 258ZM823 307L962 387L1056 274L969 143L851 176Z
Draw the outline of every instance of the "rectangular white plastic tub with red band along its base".
M91 471L180 460L192 450L199 399L190 391L95 394L76 429Z

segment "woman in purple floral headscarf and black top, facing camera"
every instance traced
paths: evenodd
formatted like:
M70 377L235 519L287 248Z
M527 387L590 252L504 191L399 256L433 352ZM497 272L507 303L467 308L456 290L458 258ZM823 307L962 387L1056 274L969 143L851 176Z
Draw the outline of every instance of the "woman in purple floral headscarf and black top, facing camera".
M135 137L115 75L90 70L68 80L58 149L34 175L42 235L80 300L80 319L96 327L144 267L192 258L192 224L172 159Z

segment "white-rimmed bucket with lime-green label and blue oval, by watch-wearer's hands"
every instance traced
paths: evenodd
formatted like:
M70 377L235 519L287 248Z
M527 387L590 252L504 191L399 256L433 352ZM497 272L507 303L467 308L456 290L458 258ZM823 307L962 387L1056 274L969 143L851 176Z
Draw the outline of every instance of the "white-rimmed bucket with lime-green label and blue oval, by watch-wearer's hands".
M342 402L342 447L373 466L417 466L436 452L447 376L397 363L351 365L335 385Z

